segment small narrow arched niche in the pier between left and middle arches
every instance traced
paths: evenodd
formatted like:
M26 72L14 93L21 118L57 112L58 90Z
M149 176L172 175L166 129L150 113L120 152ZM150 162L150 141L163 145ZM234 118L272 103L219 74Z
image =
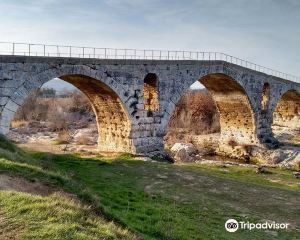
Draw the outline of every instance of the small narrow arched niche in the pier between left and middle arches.
M146 111L158 111L159 99L158 99L158 77L155 73L148 73L144 78L143 85L144 95L144 110Z

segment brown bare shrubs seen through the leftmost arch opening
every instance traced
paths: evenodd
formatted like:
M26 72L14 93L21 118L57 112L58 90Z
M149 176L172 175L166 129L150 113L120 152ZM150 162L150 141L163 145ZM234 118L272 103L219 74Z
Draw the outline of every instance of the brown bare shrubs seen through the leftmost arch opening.
M74 125L87 126L95 122L95 115L88 98L78 90L56 95L54 89L42 89L26 99L11 127L19 127L26 121L50 122L51 131L62 131Z

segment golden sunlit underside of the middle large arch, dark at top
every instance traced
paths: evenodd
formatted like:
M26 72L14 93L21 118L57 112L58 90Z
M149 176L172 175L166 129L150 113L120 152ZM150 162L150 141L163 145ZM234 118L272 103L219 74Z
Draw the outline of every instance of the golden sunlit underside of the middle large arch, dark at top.
M253 108L240 83L221 73L205 75L198 81L210 92L217 105L222 143L256 144Z

